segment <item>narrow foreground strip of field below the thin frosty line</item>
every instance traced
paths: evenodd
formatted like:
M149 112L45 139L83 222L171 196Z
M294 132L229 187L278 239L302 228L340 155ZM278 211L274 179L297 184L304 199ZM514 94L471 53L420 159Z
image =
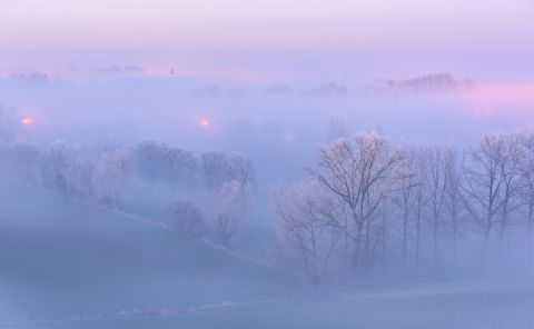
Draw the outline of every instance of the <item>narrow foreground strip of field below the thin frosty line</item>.
M33 319L6 328L376 328L528 329L534 291L474 289L427 293L322 295L179 312L122 312L102 318Z

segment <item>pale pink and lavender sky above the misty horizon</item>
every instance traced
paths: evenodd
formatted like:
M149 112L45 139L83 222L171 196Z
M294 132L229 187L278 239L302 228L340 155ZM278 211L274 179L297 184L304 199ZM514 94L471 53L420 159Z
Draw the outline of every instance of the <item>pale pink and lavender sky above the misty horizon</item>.
M342 81L452 71L525 82L533 18L532 0L0 0L0 70L174 66Z

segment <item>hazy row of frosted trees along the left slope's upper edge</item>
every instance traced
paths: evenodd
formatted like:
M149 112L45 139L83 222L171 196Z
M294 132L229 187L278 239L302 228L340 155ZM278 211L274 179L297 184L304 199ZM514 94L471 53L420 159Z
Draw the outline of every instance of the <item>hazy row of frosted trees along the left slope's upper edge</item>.
M18 173L34 186L115 210L136 179L185 191L199 190L200 198L170 202L164 211L164 223L227 248L233 247L248 216L255 177L250 159L240 153L210 151L197 158L188 150L156 141L102 152L62 141L46 148L2 142L0 166L7 175Z

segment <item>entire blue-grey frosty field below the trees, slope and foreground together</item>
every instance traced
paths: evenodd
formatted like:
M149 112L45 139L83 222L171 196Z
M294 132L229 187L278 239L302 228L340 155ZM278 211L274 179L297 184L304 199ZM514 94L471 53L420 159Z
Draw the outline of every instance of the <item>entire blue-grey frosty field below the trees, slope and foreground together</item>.
M121 213L31 188L1 198L0 328L534 328L528 283L318 293Z

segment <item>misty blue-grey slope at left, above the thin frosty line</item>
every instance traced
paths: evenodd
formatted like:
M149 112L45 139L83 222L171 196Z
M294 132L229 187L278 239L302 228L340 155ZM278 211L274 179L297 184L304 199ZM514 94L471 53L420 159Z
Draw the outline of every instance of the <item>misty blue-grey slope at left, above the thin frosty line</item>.
M198 241L31 188L0 186L0 318L187 308L298 283Z

